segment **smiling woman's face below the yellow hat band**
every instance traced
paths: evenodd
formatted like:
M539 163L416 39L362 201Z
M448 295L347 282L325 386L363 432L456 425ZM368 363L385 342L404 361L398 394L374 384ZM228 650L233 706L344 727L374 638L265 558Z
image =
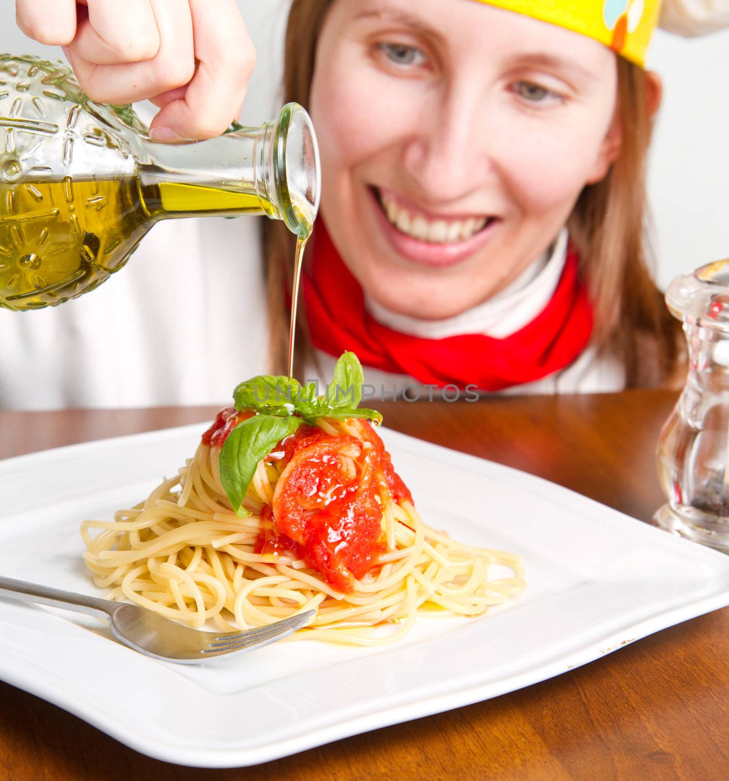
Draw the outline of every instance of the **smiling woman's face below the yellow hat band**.
M311 113L321 209L375 301L490 298L554 241L620 145L616 55L473 0L334 0Z

